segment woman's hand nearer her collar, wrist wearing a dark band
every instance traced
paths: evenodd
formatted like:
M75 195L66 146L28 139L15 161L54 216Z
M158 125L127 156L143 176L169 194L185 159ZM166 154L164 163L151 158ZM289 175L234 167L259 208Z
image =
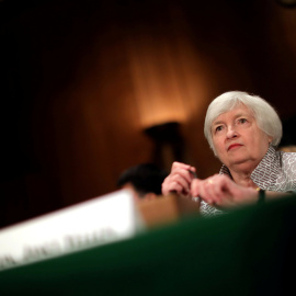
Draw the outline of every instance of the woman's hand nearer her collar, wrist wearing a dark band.
M215 174L205 180L194 179L191 184L191 194L217 207L232 207L258 201L255 189L240 186L224 174Z

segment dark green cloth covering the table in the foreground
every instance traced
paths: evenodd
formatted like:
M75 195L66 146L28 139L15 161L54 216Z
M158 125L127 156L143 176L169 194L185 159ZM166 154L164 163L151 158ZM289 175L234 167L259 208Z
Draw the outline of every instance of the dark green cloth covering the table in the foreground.
M295 230L296 196L214 218L191 216L2 271L0 295L292 295Z

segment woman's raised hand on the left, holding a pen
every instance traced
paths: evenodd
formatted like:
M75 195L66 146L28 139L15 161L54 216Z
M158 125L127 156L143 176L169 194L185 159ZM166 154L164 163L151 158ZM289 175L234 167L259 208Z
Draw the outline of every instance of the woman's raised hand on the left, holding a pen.
M170 174L162 183L162 194L171 192L187 196L191 192L191 183L194 179L192 172L196 172L194 167L181 162L173 162Z

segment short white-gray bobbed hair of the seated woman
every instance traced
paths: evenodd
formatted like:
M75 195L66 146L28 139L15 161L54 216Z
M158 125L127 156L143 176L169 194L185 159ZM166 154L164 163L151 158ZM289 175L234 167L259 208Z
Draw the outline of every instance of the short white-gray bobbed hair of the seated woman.
M212 124L223 113L232 110L238 104L246 105L254 115L258 127L272 137L272 145L277 147L283 135L282 122L274 110L264 99L243 91L229 91L220 94L208 105L204 133L205 137L216 155L212 139Z

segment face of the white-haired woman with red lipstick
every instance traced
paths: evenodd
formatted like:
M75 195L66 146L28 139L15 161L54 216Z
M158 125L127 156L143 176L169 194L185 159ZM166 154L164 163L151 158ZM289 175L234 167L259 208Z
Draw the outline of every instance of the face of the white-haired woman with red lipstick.
M229 169L239 164L258 166L272 141L243 104L220 114L213 122L212 137L218 158Z

